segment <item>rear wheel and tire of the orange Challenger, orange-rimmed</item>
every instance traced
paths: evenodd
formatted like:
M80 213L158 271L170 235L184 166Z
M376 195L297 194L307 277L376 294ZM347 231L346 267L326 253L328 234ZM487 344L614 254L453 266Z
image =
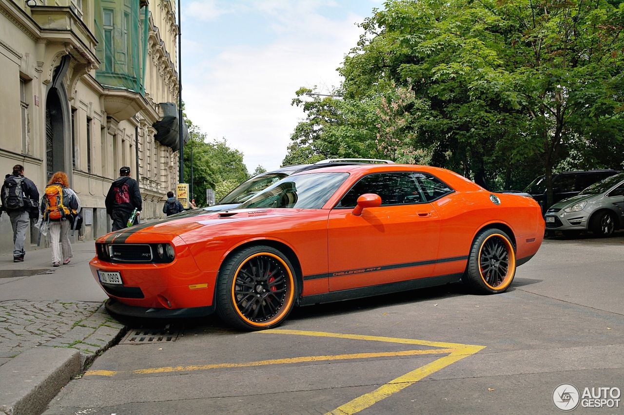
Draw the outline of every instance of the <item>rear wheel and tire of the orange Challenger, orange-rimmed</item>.
M515 275L511 239L499 229L485 229L472 242L464 283L477 293L494 294L509 288Z

